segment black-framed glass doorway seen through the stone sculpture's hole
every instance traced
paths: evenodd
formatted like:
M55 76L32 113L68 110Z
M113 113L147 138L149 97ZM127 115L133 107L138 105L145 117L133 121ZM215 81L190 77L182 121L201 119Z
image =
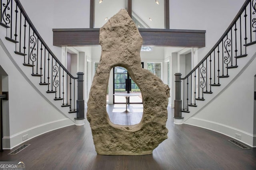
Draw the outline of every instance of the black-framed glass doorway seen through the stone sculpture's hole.
M144 68L144 63L141 63L142 68ZM127 104L142 104L142 95L140 88L137 84L130 78L130 75L126 68L121 66L116 66L113 68L113 94L117 93L133 93L138 94L138 96L130 96L127 99ZM126 104L126 98L123 96L113 96L114 104Z

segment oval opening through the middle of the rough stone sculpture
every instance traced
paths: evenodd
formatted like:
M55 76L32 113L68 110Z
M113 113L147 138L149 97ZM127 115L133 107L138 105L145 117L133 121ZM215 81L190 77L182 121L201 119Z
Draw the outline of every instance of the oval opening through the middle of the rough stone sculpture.
M122 66L113 67L113 104L107 104L109 120L116 125L136 125L143 116L142 94L129 72Z

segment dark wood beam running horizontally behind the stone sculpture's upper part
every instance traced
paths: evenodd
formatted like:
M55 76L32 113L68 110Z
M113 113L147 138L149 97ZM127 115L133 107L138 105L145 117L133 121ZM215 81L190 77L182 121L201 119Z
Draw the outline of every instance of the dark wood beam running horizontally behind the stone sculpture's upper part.
M52 29L53 45L99 45L99 28ZM205 47L204 30L139 29L143 45L164 47Z

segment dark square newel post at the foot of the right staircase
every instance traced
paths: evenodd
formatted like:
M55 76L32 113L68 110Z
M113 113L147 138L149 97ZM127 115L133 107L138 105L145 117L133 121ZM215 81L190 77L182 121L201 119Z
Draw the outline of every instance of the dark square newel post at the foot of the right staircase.
M174 118L183 119L181 113L181 73L174 74L175 76L175 100L174 100Z

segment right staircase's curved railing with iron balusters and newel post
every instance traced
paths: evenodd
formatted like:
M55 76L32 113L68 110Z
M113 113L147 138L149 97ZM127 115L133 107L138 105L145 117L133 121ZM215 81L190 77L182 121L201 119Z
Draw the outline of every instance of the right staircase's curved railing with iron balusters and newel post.
M256 0L246 0L210 52L185 77L175 74L174 118L183 119L182 112L212 94L212 86L228 78L228 71L237 68L237 60L246 57L246 47L256 43Z

